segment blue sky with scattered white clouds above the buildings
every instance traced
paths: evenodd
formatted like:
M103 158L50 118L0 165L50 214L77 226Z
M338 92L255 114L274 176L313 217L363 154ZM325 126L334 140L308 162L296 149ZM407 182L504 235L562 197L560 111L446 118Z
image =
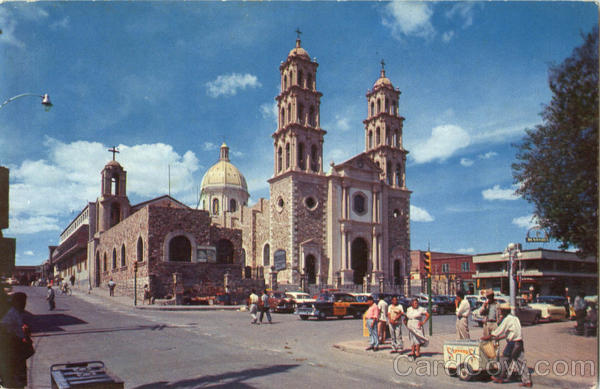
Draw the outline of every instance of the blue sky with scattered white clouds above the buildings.
M0 165L17 265L36 265L100 192L112 158L132 204L196 207L226 142L250 203L269 196L279 64L302 31L319 63L324 165L364 150L365 94L401 91L411 249L525 243L534 208L511 164L551 99L548 68L597 23L591 2L10 2L0 4ZM557 248L556 242L543 245Z

